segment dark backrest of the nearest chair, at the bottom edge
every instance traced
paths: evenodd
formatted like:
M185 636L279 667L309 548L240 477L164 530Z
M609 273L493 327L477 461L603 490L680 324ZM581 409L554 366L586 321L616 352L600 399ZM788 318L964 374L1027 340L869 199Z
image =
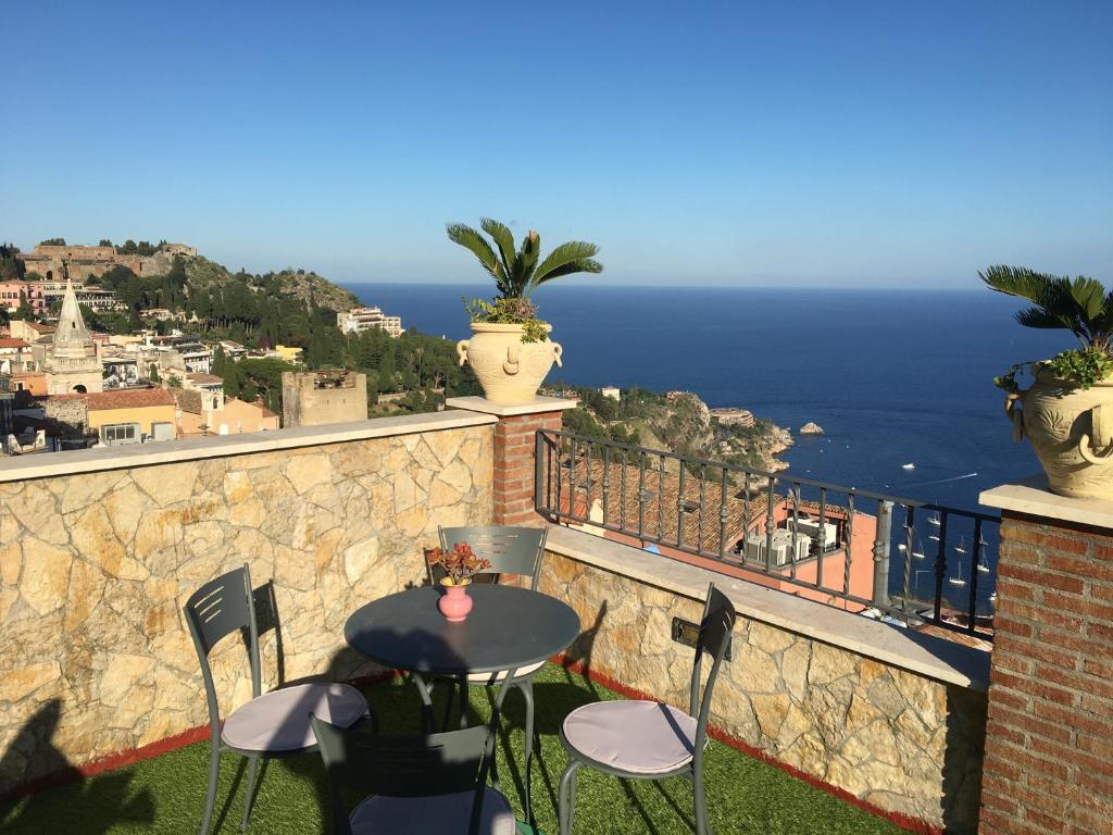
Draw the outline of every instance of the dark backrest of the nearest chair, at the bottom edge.
M380 736L366 726L338 728L309 716L328 774L333 813L341 835L352 832L346 793L359 797L433 797L474 792L470 835L477 835L483 794L494 756L494 728L476 725L429 736Z

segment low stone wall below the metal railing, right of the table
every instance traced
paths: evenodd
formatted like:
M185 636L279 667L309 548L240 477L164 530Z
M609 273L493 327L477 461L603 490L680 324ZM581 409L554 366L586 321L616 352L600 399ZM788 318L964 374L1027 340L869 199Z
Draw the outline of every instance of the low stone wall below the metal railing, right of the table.
M541 589L580 615L573 661L688 708L692 650L671 640L671 622L698 622L702 602L554 552ZM745 617L732 654L712 701L719 729L879 809L976 832L984 692Z

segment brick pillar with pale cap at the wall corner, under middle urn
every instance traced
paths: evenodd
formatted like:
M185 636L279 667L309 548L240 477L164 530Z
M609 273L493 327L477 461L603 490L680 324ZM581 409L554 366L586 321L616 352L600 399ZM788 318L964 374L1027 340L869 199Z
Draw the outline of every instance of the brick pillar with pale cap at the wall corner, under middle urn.
M494 428L494 523L540 525L544 520L533 510L533 480L538 430L559 430L561 414L573 409L573 400L538 397L530 403L502 405L484 397L450 397L453 409L493 414Z

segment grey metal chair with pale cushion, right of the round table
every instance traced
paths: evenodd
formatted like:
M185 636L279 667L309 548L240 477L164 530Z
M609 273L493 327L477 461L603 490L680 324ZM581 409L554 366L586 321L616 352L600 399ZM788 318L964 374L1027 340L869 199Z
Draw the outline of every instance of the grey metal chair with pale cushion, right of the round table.
M687 777L696 795L697 835L710 835L703 794L703 750L719 667L730 646L735 607L712 583L700 621L692 666L689 713L657 701L595 701L579 707L561 726L560 740L569 764L560 780L558 815L561 835L572 832L575 774L588 766L624 779ZM700 665L711 656L711 669L700 696Z

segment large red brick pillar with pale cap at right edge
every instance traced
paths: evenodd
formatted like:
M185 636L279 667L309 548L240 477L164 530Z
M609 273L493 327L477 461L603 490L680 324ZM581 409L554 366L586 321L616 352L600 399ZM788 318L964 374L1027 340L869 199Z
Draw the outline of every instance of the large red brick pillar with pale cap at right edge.
M1113 833L1113 502L1002 508L981 835Z

